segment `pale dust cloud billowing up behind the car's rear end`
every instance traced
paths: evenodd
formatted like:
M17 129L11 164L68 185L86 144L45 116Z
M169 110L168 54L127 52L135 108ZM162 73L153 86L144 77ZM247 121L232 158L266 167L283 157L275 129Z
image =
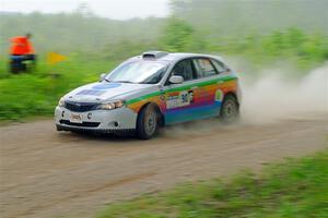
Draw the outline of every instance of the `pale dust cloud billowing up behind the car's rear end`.
M241 75L242 122L261 124L314 114L328 118L328 63L302 78L288 77L290 72L282 69L260 75L253 82L247 74Z

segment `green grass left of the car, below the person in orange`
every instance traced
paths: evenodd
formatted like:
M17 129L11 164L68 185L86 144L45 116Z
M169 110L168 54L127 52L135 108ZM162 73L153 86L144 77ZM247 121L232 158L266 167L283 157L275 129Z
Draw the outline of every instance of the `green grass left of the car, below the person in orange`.
M21 120L26 117L50 116L59 98L67 92L95 82L114 63L105 60L67 61L50 65L39 61L32 73L12 75L7 62L0 62L0 121Z

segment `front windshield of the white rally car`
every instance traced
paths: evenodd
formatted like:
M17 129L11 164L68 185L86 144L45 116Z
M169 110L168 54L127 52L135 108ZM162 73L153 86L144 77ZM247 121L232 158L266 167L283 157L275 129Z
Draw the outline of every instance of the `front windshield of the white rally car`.
M166 62L138 60L125 62L106 76L106 81L118 83L155 84L161 81L167 68Z

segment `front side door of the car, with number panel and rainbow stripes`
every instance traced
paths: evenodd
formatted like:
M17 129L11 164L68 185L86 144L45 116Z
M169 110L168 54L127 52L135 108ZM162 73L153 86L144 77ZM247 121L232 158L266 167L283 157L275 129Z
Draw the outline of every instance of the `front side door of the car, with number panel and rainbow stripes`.
M171 84L168 82L172 75L184 77L181 84ZM198 104L194 96L198 96L198 86L195 85L197 73L191 59L179 61L173 68L167 82L164 85L165 95L165 123L179 123L195 119Z

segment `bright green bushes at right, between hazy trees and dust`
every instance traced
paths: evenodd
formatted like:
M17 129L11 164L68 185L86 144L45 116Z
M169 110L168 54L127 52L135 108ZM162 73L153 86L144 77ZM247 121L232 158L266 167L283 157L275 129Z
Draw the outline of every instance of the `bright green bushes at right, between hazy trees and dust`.
M290 60L300 69L309 69L328 60L327 36L305 34L295 27L268 35L218 38L208 44L209 51L239 56L260 65Z

